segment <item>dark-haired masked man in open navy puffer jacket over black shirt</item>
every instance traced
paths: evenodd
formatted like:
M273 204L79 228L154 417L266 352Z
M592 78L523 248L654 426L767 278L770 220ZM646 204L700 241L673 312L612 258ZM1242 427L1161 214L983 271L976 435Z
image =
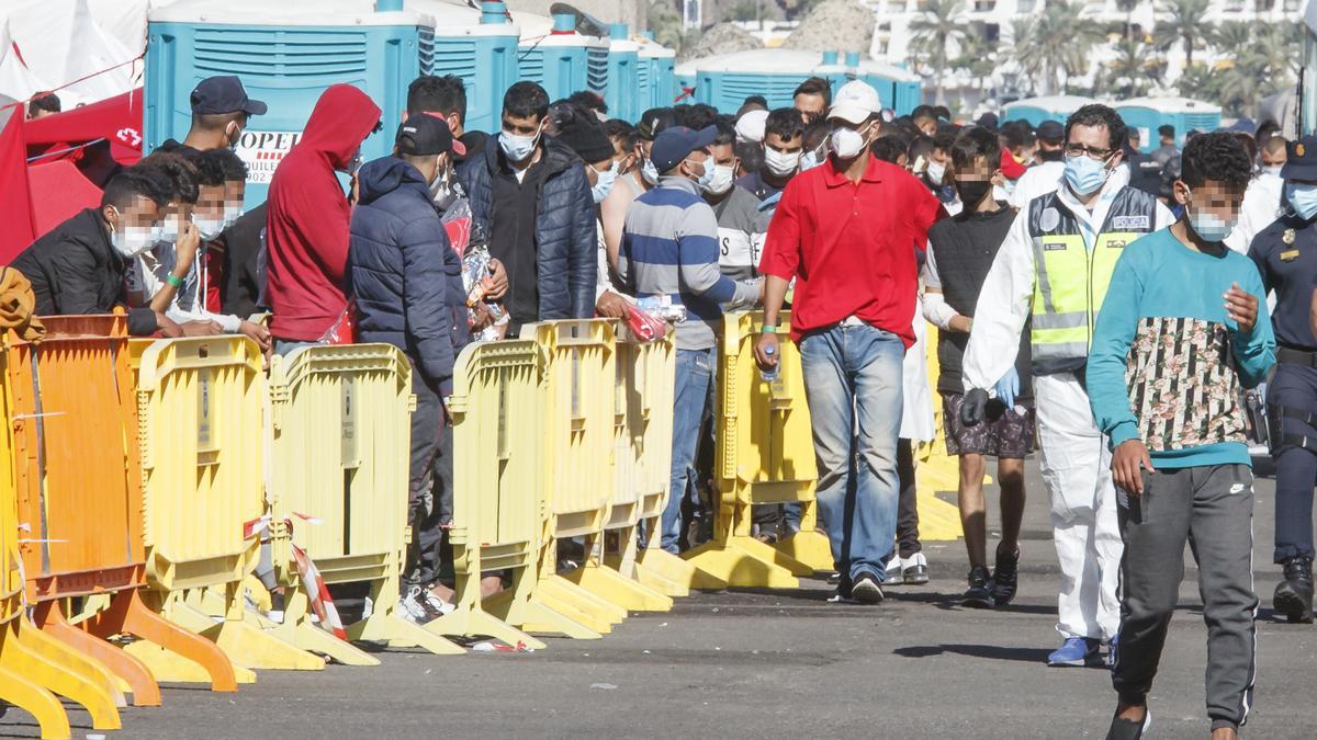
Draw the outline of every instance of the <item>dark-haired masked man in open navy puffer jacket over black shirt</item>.
M594 316L595 211L581 159L544 136L549 96L520 82L503 96L503 129L460 176L474 226L508 273L512 330Z

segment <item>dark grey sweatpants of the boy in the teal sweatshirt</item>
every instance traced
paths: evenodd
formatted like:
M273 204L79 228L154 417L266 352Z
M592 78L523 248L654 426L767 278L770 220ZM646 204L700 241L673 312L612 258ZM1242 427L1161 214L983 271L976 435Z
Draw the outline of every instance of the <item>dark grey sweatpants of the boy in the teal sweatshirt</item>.
M1184 542L1198 564L1208 624L1208 716L1238 727L1252 708L1258 595L1252 589L1252 470L1247 465L1160 469L1142 496L1117 491L1125 557L1121 632L1112 685L1126 703L1152 689L1184 578Z

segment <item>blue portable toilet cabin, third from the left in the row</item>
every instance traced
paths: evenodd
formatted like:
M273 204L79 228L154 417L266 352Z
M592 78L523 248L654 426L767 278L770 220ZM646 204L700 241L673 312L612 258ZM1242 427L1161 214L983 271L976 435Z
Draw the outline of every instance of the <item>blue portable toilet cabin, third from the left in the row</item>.
M581 90L607 95L608 40L582 36L576 30L576 17L565 13L552 20L533 13L512 13L512 20L522 29L518 46L520 79L539 83L551 101Z

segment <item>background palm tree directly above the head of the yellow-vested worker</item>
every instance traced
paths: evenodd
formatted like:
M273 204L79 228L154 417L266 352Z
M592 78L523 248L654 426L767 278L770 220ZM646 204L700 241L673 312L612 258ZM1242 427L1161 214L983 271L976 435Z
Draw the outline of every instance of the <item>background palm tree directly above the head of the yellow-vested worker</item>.
M1056 0L1038 18L1015 24L1015 62L1046 82L1046 92L1064 92L1071 76L1087 74L1093 46L1105 38L1101 25L1083 12L1083 0Z

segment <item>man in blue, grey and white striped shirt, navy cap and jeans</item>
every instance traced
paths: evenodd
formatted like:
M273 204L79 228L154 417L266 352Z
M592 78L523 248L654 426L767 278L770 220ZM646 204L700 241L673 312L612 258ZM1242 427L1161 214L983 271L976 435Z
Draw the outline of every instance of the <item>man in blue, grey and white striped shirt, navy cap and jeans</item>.
M701 198L712 182L710 147L715 126L677 126L655 138L649 161L658 186L627 209L618 254L618 277L636 298L668 298L686 308L677 324L677 387L672 424L672 486L662 515L662 548L677 552L681 498L710 402L722 305L739 308L760 299L759 286L738 283L718 269L718 217Z

